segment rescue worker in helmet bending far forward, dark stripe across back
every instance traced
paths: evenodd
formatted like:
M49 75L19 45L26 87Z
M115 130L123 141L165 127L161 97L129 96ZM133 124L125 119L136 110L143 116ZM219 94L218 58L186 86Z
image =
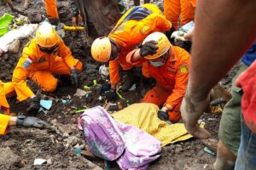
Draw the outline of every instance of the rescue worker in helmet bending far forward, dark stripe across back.
M111 93L115 95L117 84L120 82L119 66L127 71L130 80L124 81L123 91L131 88L137 81L136 74L131 69L133 65L127 63L126 54L131 52L148 34L154 31L169 31L170 21L154 4L144 4L129 9L117 22L108 37L97 38L91 46L91 55L96 61L109 61L109 77Z

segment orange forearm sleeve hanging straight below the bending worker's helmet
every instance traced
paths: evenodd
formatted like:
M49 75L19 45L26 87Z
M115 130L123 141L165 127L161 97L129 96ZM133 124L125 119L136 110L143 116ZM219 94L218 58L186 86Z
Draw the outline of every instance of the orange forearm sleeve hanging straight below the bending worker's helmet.
M109 78L110 83L114 85L120 81L118 59L109 61Z

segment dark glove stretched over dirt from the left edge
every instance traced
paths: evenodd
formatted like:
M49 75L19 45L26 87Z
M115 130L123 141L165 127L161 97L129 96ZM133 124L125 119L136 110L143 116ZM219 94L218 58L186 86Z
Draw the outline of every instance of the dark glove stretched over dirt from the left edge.
M47 122L38 119L38 117L33 116L23 116L17 117L17 126L21 127L37 127L37 128L50 128Z

